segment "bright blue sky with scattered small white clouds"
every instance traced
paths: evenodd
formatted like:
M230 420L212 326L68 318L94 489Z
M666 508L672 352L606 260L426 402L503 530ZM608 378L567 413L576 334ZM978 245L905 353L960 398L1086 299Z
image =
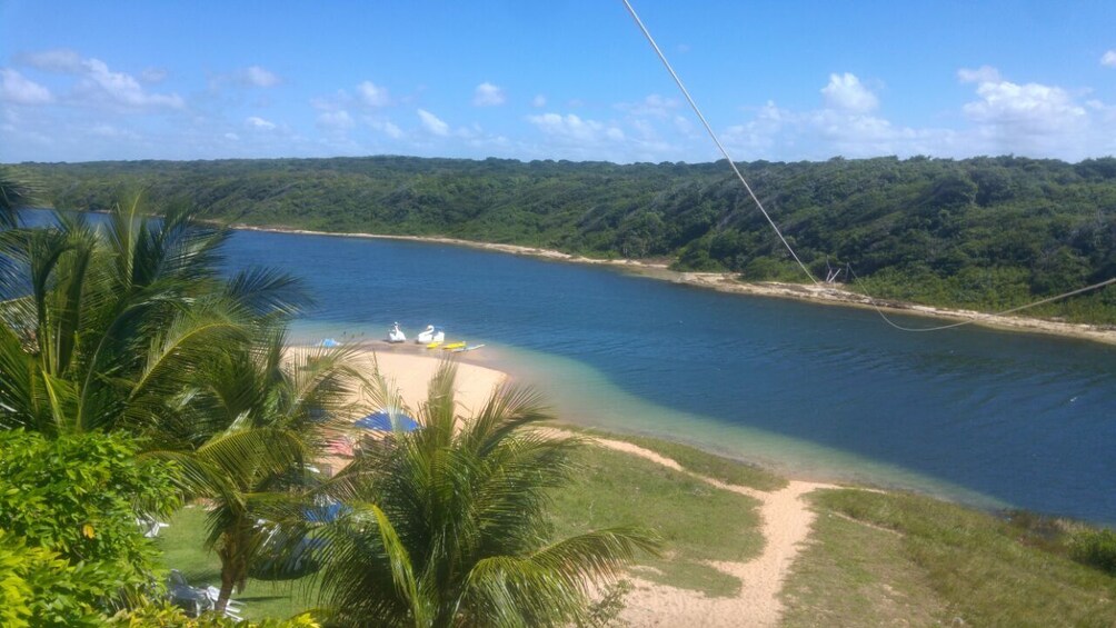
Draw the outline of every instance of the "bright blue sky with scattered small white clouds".
M1116 2L633 0L738 161L1116 154ZM0 162L719 158L619 0L0 0Z

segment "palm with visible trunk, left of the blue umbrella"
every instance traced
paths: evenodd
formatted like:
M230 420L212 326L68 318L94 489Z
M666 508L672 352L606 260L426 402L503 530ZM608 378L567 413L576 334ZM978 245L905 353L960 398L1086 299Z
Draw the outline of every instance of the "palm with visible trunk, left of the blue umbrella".
M196 496L211 502L206 544L221 559L218 612L242 590L249 566L278 529L260 521L294 510L310 463L348 417L356 393L353 350L314 348L288 355L282 322L258 341L224 351L189 392L181 438L208 434L189 452L160 453L185 470Z

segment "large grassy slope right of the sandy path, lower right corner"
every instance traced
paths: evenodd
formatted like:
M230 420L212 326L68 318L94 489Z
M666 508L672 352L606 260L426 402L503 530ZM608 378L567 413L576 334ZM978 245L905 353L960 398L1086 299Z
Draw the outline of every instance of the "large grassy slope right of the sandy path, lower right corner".
M812 543L783 591L788 625L1116 625L1116 578L1018 524L910 494L811 500Z

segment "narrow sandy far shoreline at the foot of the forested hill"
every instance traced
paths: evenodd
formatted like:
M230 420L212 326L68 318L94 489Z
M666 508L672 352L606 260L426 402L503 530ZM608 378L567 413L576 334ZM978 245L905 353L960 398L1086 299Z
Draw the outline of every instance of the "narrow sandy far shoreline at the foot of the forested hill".
M328 235L336 238L362 238L368 240L396 240L405 242L423 242L430 244L449 244L453 247L468 247L482 251L498 253L509 253L513 255L525 255L556 262L568 262L587 265L605 265L624 269L641 277L668 281L681 286L689 286L705 290L715 290L731 294L743 294L749 297L793 299L807 303L821 306L837 306L846 308L878 309L887 313L898 313L918 316L952 322L964 322L984 328L1001 331L1013 331L1024 334L1041 334L1045 336L1057 336L1060 338L1072 338L1088 340L1105 345L1116 345L1116 327L1100 325L1061 322L1041 318L1000 316L979 312L975 310L959 310L950 308L939 308L934 306L922 306L902 301L876 301L865 294L849 292L836 286L810 286L806 283L783 283L777 281L743 282L735 279L731 272L685 272L670 270L665 263L646 262L639 260L599 260L562 253L549 249L536 247L525 247L520 244L498 244L493 242L477 242L473 240L462 240L459 238L442 238L427 235L388 235L377 233L346 233L336 231L315 231L309 229L295 229L286 226L258 226L242 223L228 224L229 229L237 231L260 231L266 233L291 233L296 235Z

